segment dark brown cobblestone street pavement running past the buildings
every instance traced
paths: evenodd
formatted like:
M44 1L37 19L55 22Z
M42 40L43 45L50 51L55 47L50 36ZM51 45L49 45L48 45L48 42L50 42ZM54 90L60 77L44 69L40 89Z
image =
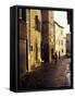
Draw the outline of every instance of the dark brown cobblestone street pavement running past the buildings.
M21 88L50 88L71 85L71 59L60 59L54 62L41 63L35 71L27 73L21 79Z

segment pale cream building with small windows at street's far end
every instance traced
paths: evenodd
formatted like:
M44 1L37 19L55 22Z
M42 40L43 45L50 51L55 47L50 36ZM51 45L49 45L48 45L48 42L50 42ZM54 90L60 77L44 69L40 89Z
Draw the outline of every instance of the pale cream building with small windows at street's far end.
M64 27L54 22L54 51L58 57L66 54L66 35L64 34Z

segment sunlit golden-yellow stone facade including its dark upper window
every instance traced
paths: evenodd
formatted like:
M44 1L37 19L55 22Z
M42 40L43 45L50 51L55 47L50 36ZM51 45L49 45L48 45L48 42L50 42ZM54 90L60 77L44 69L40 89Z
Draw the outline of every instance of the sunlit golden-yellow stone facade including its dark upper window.
M41 61L41 14L40 10L29 11L28 23L28 71L38 66Z

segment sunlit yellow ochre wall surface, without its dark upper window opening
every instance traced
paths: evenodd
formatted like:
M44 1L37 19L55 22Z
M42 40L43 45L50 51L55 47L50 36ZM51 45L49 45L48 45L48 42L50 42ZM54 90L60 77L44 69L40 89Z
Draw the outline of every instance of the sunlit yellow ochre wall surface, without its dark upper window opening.
M41 21L40 17L40 10L30 10L29 13L29 51L28 51L28 71L34 70L41 61L40 56L40 41L41 41L41 33L35 28L35 16L38 15L39 22ZM41 28L41 26L40 26ZM36 48L37 44L37 48ZM33 48L30 50L30 48ZM37 53L37 60L36 60L36 53Z

